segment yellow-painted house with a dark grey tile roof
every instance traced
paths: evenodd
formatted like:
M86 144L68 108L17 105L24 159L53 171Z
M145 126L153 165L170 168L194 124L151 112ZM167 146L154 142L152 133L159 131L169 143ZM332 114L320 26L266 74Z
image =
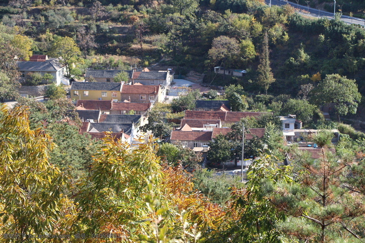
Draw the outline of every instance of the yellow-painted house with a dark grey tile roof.
M71 99L118 100L120 83L73 82L70 89Z

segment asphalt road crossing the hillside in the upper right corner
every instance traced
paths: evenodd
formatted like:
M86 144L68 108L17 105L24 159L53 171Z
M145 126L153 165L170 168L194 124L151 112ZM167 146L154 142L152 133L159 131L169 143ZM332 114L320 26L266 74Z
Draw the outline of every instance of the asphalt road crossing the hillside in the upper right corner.
M318 10L318 9L315 9L315 8L308 8L307 6L297 5L296 3L291 3L291 2L287 2L287 1L283 1L283 0L265 0L265 3L267 5L269 5L270 1L271 1L271 5L281 6L281 5L285 5L285 4L290 4L293 7L299 9L299 11L305 11L304 13L301 12L302 14L309 15L309 16L312 16L312 17L326 17L328 19L333 19L334 18L333 17L333 12L330 13L330 12ZM309 10L309 14L307 13L308 10ZM336 12L338 13L338 8L336 9ZM358 19L358 18L353 17L352 20L351 20L351 17L345 16L345 15L341 16L341 20L344 21L346 24L351 24L351 21L352 21L353 24L360 24L361 26L364 26L364 24L365 24L363 19Z

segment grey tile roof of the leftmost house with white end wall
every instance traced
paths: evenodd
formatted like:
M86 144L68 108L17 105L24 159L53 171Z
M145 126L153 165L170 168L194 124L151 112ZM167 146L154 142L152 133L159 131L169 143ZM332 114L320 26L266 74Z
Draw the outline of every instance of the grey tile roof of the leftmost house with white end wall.
M20 71L57 71L64 67L59 59L46 60L45 62L20 61L17 63Z

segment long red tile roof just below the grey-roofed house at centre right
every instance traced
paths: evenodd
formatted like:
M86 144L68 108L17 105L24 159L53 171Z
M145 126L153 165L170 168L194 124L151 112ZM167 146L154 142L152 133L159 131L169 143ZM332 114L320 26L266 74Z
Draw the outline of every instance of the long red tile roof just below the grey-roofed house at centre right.
M226 122L238 122L245 117L258 118L267 112L236 112L236 111L196 111L187 110L185 111L186 119L220 119ZM272 113L269 113L272 114Z

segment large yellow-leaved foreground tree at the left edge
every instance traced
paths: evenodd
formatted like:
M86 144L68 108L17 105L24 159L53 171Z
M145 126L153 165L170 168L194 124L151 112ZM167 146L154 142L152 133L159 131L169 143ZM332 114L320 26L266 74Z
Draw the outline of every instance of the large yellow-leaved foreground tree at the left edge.
M53 232L61 208L72 207L62 194L69 177L49 162L54 144L44 130L30 129L26 107L1 111L1 234Z

